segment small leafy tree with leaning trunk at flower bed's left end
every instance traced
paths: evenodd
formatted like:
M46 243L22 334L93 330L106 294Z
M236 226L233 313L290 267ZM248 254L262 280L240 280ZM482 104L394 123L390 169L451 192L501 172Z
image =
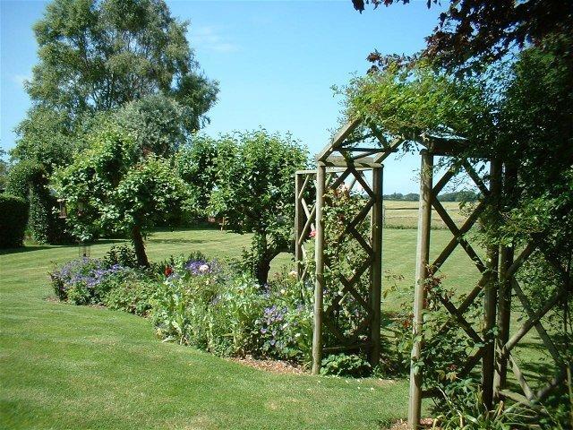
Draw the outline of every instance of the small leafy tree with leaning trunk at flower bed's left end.
M68 225L84 240L101 231L128 234L138 263L148 266L143 237L158 222L181 218L189 206L188 185L170 159L141 150L141 139L116 121L101 125L88 139L90 149L55 174Z

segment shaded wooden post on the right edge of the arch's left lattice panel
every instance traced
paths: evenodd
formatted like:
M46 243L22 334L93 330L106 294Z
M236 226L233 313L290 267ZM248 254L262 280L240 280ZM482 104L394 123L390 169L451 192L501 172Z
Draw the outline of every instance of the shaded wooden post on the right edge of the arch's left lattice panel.
M382 292L382 168L372 169L372 193L374 205L372 206L372 271L370 305L372 306L370 364L372 367L380 364L381 352L381 292Z

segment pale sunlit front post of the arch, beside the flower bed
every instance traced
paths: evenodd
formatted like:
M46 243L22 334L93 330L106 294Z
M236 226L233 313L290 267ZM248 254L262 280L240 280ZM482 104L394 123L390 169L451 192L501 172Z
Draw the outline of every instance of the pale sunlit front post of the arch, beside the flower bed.
M316 168L316 236L314 261L316 263L314 283L314 331L312 332L312 374L319 374L322 362L322 301L324 294L324 204L326 166L318 162Z

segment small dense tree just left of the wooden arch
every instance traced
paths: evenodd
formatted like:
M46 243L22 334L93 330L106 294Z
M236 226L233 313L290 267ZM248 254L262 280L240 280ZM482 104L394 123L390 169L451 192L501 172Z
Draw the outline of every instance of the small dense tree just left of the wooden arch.
M265 130L234 133L218 142L217 181L211 210L237 233L254 233L249 259L261 284L269 263L288 249L295 213L295 171L307 152L289 134Z

